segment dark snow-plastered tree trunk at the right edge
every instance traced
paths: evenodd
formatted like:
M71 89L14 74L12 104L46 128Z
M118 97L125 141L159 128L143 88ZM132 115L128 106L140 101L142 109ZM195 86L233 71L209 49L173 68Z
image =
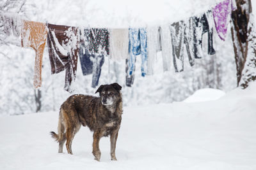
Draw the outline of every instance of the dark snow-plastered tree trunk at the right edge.
M255 80L256 41L251 0L237 0L237 10L232 12L232 40L237 68L237 85L243 88Z

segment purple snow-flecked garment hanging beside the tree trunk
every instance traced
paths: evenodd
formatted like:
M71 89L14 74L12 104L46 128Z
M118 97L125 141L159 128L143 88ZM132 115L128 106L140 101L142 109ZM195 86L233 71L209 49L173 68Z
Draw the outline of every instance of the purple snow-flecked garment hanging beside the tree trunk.
M234 0L224 0L212 8L216 31L223 41L225 41L227 36L227 27L232 10L236 10L236 1Z

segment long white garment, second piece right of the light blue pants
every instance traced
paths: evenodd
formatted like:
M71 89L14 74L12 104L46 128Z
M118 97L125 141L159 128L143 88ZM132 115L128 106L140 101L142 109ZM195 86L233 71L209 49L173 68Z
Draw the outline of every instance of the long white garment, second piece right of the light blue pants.
M170 71L172 64L172 38L169 25L160 27L160 41L163 56L163 71Z

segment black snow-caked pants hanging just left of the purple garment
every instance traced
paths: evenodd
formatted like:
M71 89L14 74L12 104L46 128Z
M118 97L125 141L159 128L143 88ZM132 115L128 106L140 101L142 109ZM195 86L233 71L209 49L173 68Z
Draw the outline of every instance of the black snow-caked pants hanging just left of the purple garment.
M208 54L214 55L216 52L213 47L213 24L212 24L212 11L209 10L206 13L193 17L194 21L194 52L195 52L195 58L200 59L203 56L202 52L202 39L203 34L206 32L208 33Z

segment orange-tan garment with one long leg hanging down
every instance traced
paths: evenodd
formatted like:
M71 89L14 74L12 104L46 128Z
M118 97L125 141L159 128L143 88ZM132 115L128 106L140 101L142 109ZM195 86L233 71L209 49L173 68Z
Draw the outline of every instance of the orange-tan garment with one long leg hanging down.
M42 59L47 37L47 27L44 23L22 20L21 46L31 47L36 52L34 87L42 84Z

